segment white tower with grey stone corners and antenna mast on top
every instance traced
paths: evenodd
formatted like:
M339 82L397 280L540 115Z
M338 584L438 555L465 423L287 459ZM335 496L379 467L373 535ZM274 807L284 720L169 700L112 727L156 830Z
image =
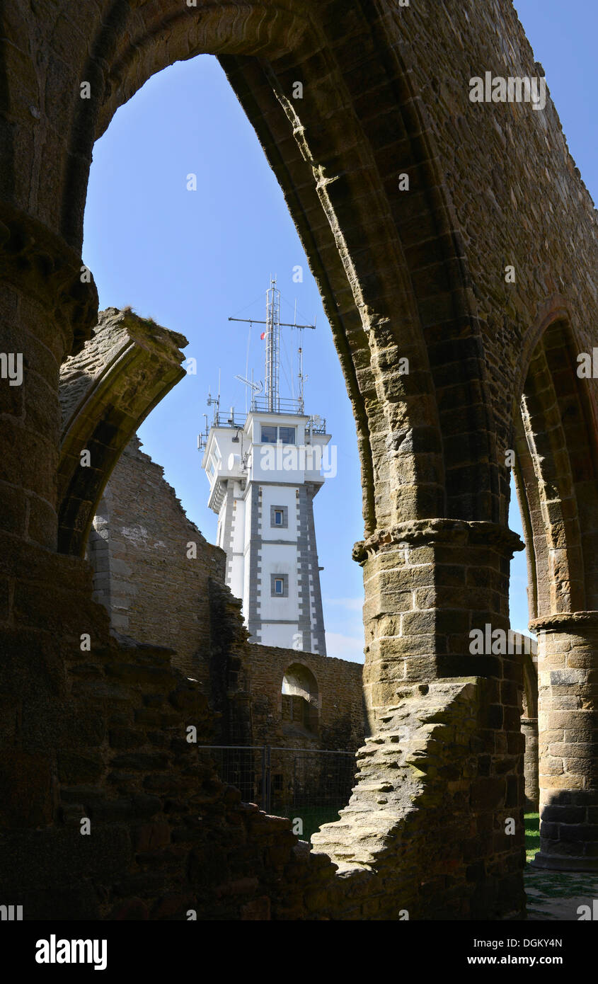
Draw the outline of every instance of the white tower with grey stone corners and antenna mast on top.
M209 479L209 508L217 514L216 543L226 552L226 584L243 602L251 642L326 654L314 497L329 461L326 421L305 412L300 361L299 398L278 393L280 323L275 280L267 292L266 387L252 389L246 415L220 413L200 435ZM229 319L247 320L250 319ZM300 348L300 360L302 359Z

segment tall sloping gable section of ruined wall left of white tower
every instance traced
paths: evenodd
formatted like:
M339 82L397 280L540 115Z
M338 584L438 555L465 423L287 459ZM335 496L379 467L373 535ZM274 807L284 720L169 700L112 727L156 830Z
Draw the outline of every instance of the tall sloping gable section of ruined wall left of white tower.
M223 580L225 554L187 519L164 469L140 448L136 437L125 449L93 521L96 599L108 607L113 629L169 646L174 664L206 683L208 581ZM97 537L107 551L97 549ZM197 546L195 558L188 557L190 543Z

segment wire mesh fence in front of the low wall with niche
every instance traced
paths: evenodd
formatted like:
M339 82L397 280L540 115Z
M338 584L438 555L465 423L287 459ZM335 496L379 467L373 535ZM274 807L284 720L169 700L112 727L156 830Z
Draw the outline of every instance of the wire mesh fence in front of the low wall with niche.
M270 745L202 745L223 782L236 786L246 803L293 821L309 840L322 824L338 820L349 801L355 753Z

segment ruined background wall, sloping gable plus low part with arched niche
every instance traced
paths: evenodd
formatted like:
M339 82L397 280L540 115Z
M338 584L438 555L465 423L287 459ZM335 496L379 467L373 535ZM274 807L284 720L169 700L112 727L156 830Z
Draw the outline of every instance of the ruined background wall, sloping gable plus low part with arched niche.
M163 468L134 438L93 519L93 597L113 630L175 650L218 717L215 740L354 752L363 741L363 667L248 641L240 602L224 584L225 554L186 516ZM189 544L196 556L188 557ZM282 678L299 663L317 682L312 729L283 721Z

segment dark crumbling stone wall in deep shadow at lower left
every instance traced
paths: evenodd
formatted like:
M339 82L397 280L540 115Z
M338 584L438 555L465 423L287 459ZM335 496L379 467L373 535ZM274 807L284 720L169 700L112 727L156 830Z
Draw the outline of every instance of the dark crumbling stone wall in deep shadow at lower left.
M12 583L19 558L5 533L0 545L0 575ZM171 650L110 636L84 561L47 561L43 577L33 572L13 592L3 626L4 897L26 920L309 918L333 867L306 858L290 821L241 804L198 756L198 743L213 740L199 683L172 665ZM24 645L38 659L17 699L9 682Z

